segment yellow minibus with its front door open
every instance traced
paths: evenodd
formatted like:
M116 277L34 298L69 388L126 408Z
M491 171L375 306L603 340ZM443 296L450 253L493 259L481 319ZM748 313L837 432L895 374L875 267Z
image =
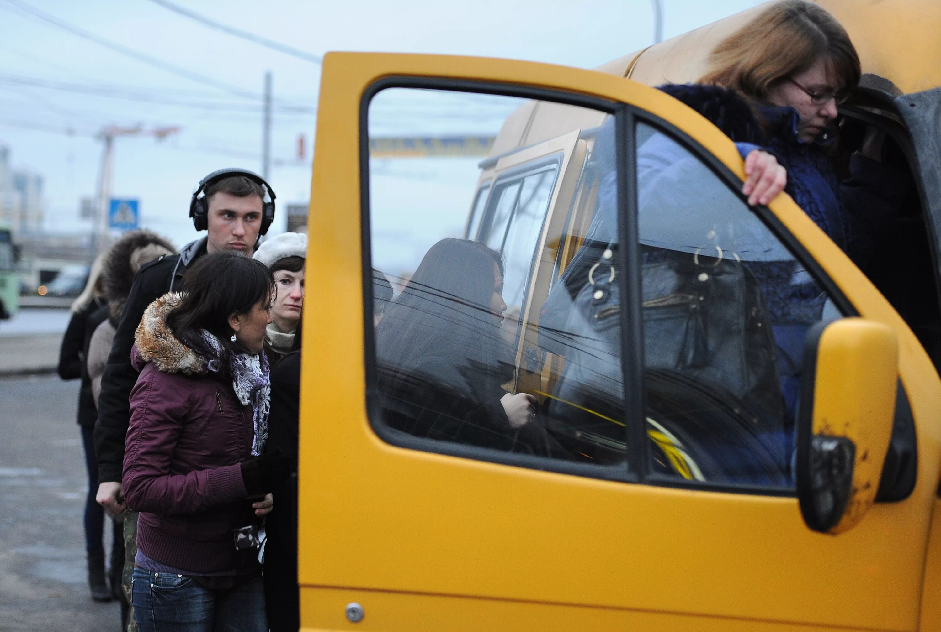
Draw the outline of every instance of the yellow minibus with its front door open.
M302 629L941 629L941 4L821 5L864 72L837 168L874 126L914 182L865 274L788 196L749 206L732 141L654 88L694 82L767 5L595 71L325 56ZM489 155L369 152L461 134L495 137ZM403 421L383 386L374 270L387 319L415 292L466 311L416 287L446 238L501 256L500 388L532 403L522 425ZM446 369L410 392L452 392L465 368Z

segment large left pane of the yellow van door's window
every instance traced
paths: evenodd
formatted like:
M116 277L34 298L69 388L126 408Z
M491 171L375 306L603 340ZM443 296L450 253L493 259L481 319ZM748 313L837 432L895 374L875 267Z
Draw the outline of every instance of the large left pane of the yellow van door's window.
M389 88L369 105L369 140L387 146L390 143L373 141L406 134L447 136L466 132L469 126L474 134L496 135L504 119L525 103L510 97L482 100L481 95L443 90ZM412 154L407 168L387 154L371 157L370 263L399 291L371 332L375 344L367 345L375 349L370 363L371 419L386 440L523 466L546 468L551 460L563 464L557 467L587 467L588 475L623 478L626 423L620 334L609 326L619 317L607 318L597 335L588 332L585 327L592 324L578 315L563 318L545 337L540 324L553 265L566 239L566 218L587 164L587 141L580 138L577 124L583 121L585 129L596 128L608 116L591 108L566 107L571 116L563 119L560 129L551 134L543 130L544 137L526 144L521 140L516 150L503 148L500 157L491 159L486 167L495 173L490 191L478 186L479 156L471 160L453 154L447 159ZM409 111L421 116L402 114ZM435 116L437 111L468 116L454 120ZM398 125L396 117L401 118ZM614 147L611 128L600 145ZM609 148L606 155L606 166L613 170L614 150ZM593 212L584 209L589 213L585 226ZM567 300L582 306L592 299ZM553 338L584 352L566 358L571 379L565 385L560 380L540 382L550 354L538 345L544 341L551 346ZM561 346L552 348L558 352L551 357L559 368ZM519 377L524 370L526 380ZM588 398L576 392L582 387L590 391ZM588 424L566 425L584 415L592 418ZM596 434L608 451L593 462L591 455L580 453L572 437L592 431L598 422L604 428ZM598 466L611 469L602 472Z

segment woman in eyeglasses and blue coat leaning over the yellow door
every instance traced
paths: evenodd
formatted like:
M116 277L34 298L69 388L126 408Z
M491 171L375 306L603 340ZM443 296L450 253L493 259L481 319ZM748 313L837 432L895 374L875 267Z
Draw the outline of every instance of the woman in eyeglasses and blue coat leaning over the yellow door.
M785 191L865 270L911 184L882 163L885 134L875 128L853 153L849 179L837 177L828 150L837 140L837 105L861 73L846 30L818 5L783 0L721 42L710 67L698 84L660 89L715 123L742 156L749 148L770 151L787 170ZM748 182L743 193L751 193ZM768 308L785 408L793 416L806 331L821 319L826 297L809 277L797 282L801 276L792 262L751 262L748 268Z

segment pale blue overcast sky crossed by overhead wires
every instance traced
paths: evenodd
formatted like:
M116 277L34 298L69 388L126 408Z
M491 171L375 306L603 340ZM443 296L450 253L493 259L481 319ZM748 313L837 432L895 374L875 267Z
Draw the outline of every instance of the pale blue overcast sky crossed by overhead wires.
M315 64L217 32L151 0L15 1L236 91L261 93L264 71L272 71L275 97L285 107L316 104L320 73ZM649 0L176 1L318 55L338 50L485 55L593 68L648 45L653 37ZM665 38L758 4L664 2ZM144 101L24 85L36 80L99 94L135 91ZM311 113L276 112L271 183L279 203L308 197L315 122ZM261 170L259 103L120 55L0 0L0 144L11 150L13 166L45 177L48 229L88 229L78 218L79 198L94 194L101 143L92 135L108 124L181 127L180 134L162 143L119 138L112 188L117 197L139 198L144 226L178 244L195 236L186 212L202 176L222 166ZM303 162L295 158L299 134L307 140ZM283 225L284 213L279 215L275 230Z

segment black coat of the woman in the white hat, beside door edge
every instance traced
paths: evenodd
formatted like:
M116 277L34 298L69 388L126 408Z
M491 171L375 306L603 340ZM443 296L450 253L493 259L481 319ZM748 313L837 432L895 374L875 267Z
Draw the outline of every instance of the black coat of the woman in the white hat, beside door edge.
M271 632L300 627L297 585L297 421L300 413L300 353L284 356L271 371L271 412L264 451L280 450L290 476L271 490L277 510L268 515L264 548L264 594Z

